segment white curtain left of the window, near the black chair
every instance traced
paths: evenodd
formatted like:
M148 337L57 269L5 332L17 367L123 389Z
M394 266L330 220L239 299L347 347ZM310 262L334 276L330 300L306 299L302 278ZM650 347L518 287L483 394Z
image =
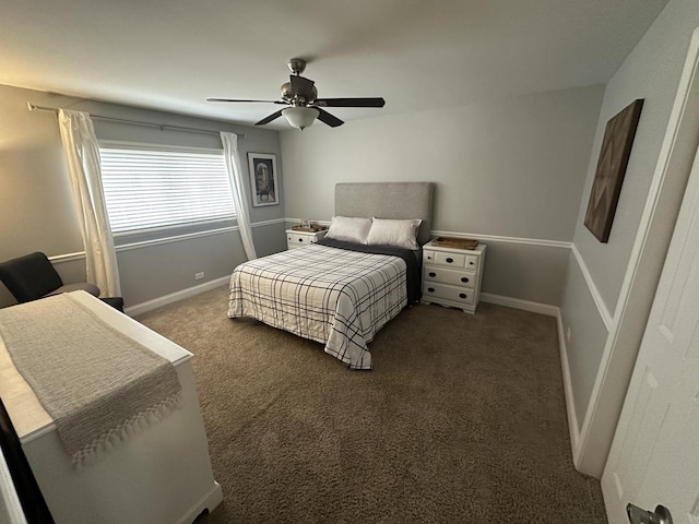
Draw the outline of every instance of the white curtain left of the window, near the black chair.
M59 109L58 126L85 247L87 282L99 287L103 296L119 297L117 253L105 207L99 146L92 119L86 112Z

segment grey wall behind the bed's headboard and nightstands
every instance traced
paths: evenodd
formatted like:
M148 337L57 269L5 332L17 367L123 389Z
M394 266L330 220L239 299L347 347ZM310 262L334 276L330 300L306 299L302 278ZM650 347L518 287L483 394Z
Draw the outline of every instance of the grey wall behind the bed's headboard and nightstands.
M558 306L603 91L284 131L287 217L329 221L336 182L433 181L433 229L491 243L484 293Z

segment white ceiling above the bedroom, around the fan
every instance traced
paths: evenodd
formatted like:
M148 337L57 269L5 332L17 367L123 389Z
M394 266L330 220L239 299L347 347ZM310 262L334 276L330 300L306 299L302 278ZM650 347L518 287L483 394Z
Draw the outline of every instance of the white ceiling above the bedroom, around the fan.
M606 82L667 0L0 0L0 84L253 123L286 62L343 120ZM273 129L286 129L283 119Z

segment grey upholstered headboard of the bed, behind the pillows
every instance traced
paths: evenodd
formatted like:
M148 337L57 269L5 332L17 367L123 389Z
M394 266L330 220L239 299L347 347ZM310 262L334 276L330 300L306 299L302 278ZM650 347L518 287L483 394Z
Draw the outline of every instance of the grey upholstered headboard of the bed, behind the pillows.
M429 241L434 182L357 182L335 184L335 215L422 218L417 241Z

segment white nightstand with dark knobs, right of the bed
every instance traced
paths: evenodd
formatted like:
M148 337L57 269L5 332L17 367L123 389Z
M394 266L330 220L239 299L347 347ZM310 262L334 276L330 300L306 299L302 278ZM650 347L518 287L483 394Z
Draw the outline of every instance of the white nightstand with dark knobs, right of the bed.
M423 299L475 313L481 298L484 245L474 249L423 246Z

